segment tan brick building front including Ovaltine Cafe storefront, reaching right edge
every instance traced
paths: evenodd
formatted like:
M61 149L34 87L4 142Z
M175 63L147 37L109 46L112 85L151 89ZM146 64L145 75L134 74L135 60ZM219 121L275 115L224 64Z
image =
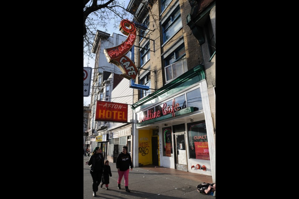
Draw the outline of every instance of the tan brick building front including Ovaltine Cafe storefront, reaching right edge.
M136 83L150 86L133 90L134 166L211 175L216 183L215 8L211 0L129 2L139 35Z

